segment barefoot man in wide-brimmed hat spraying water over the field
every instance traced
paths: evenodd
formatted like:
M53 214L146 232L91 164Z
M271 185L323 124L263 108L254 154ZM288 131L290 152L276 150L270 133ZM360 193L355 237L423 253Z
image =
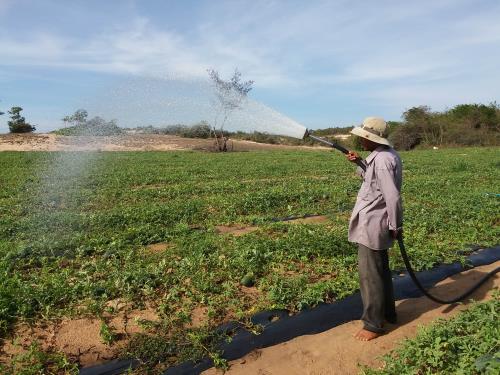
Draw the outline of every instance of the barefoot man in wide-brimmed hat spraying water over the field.
M362 341L384 333L384 323L396 323L396 308L387 251L402 231L401 158L387 140L387 124L368 117L352 134L371 151L366 171L358 167L363 184L349 222L349 241L358 244L358 267L363 328L355 335ZM348 160L360 159L349 152Z

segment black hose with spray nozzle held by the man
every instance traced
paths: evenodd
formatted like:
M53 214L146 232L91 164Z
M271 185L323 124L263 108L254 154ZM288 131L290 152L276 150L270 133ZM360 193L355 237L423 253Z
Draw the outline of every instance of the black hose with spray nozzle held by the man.
M306 130L306 132L304 134L304 138L305 137L310 137L310 138L314 139L315 141L324 143L324 144L330 146L331 148L339 150L340 152L342 152L344 154L349 153L349 150L347 150L345 147L343 147L341 145L338 145L338 144L336 144L334 142L327 141L326 139L314 136L308 130ZM361 169L363 169L364 171L366 171L366 164L361 159L357 159L355 161L355 163ZM408 253L406 252L406 247L405 247L405 244L404 244L404 241L403 241L403 234L401 232L398 233L397 240L398 240L399 251L401 252L401 257L403 258L403 262L405 264L405 267L406 267L406 269L408 271L408 274L410 275L410 278L412 279L412 281L415 283L415 285L417 286L417 288L420 289L420 291L426 297L428 297L429 299L431 299L434 302L441 303L443 305L449 305L449 304L456 303L456 302L464 300L465 298L467 298L468 296L470 296L472 293L474 293L481 285L483 285L486 282L486 280L488 280L490 277L492 277L493 275L497 274L500 271L500 267L497 267L494 270L492 270L489 273L487 273L485 276L483 276L476 284L474 284L471 288L467 289L465 292L463 292L459 296L457 296L455 298L452 298L452 299L448 299L448 300L442 299L442 298L436 297L436 296L432 295L431 293L429 293L423 287L423 285L420 283L420 281L418 280L417 276L415 275L415 272L413 271L413 267L411 266L410 258L408 257Z

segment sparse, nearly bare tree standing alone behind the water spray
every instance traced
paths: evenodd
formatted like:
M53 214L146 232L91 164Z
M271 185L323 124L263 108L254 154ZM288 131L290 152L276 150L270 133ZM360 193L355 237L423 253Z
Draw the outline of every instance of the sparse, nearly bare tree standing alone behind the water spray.
M208 69L208 76L215 87L213 106L215 118L212 131L218 151L227 151L228 137L224 135L224 126L230 114L241 108L247 94L252 89L253 81L241 81L241 73L235 69L230 80L225 81L214 69Z

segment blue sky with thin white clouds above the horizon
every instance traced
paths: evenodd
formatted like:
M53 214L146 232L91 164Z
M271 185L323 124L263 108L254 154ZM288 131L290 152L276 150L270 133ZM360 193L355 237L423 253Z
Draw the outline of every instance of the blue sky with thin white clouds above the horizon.
M0 110L47 131L131 78L236 67L253 99L309 128L487 104L499 20L493 0L0 0Z

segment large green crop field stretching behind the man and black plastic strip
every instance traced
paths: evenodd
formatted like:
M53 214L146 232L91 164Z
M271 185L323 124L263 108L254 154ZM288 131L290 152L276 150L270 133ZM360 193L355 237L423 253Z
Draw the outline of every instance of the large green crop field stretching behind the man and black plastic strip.
M498 148L401 155L416 269L498 244ZM298 311L358 288L347 227L360 180L338 153L4 152L0 165L3 337L16 321L90 315L103 317L112 342L106 302L121 298L161 318L124 353L149 367L207 354L218 361L211 329L222 322L249 324L259 310ZM272 221L305 214L329 220ZM259 229L237 237L218 225ZM146 247L155 243L166 249ZM392 252L391 267L402 269ZM253 288L241 285L245 275ZM200 307L204 322L190 327Z

